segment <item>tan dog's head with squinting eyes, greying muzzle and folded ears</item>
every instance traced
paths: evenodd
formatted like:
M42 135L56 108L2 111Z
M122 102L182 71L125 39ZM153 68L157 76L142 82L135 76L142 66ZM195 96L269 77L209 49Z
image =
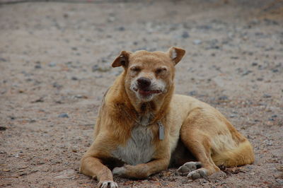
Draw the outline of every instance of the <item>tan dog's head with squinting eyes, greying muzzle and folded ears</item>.
M171 47L168 52L122 51L112 67L125 69L125 89L140 102L149 102L172 89L175 65L185 50Z

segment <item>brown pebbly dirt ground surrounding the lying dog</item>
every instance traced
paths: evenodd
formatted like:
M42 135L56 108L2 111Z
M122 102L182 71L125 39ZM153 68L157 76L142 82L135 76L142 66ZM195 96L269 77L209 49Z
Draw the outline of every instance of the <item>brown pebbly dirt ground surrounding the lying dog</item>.
M120 187L283 187L282 1L0 1L0 187L94 187L78 172L121 50L187 53L175 93L223 112L255 163L187 180L175 169Z

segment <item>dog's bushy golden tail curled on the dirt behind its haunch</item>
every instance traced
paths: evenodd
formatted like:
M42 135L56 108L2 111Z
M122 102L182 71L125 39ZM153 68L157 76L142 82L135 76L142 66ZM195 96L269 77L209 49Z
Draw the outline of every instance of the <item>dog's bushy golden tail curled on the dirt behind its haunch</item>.
M226 167L236 167L251 164L255 160L253 146L248 140L239 143L238 147L228 151L222 151L212 155L215 165L224 165Z

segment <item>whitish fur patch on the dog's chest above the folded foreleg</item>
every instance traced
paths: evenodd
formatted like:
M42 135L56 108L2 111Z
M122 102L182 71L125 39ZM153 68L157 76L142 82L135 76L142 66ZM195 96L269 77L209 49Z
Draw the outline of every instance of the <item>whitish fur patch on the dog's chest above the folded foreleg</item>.
M147 163L154 154L152 140L153 134L150 127L137 125L132 129L131 137L126 145L118 146L112 155L128 165Z

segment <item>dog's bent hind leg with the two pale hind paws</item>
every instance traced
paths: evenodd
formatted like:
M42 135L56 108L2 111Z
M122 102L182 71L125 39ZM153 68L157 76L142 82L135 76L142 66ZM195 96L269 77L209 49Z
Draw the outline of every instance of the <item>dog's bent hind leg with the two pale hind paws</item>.
M181 174L187 174L187 177L191 179L205 178L214 172L221 171L212 160L212 144L206 132L206 127L209 127L210 123L212 122L202 114L202 111L196 110L187 117L180 129L181 141L202 166L197 169L200 163L185 163L179 168L178 171Z

